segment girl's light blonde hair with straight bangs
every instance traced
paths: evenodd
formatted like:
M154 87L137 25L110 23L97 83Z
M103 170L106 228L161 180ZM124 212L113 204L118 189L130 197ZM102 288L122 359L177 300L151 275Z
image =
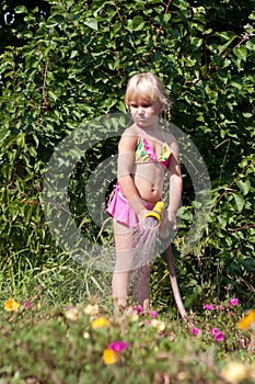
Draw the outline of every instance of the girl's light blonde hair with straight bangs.
M170 100L166 95L164 84L161 79L151 72L137 74L130 78L125 94L125 103L129 108L130 101L159 101L163 106L162 115L166 116L170 106Z

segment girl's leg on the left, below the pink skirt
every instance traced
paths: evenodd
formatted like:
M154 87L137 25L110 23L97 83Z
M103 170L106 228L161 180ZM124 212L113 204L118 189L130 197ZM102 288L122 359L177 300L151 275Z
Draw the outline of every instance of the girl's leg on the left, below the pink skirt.
M132 229L114 222L116 263L112 280L115 312L127 306L128 281L132 269Z

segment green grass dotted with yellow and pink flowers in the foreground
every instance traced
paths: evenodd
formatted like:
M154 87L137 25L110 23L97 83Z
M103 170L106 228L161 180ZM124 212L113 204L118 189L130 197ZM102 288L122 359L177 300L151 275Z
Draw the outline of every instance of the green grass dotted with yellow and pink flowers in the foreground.
M67 263L2 286L0 384L254 383L255 323L239 328L237 300L189 310L192 325L154 304L114 316L109 276L86 273Z

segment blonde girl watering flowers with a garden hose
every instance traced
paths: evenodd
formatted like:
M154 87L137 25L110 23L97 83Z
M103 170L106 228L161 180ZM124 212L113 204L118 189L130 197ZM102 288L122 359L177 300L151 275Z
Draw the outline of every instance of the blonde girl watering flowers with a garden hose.
M170 101L162 81L151 72L135 75L128 82L125 103L134 124L119 140L117 185L107 205L107 212L114 217L116 264L112 292L116 313L120 306L127 306L129 274L136 268L134 258L139 258L134 247L136 229L139 227L142 233L146 214L162 201L165 171L169 172L170 202L164 229L176 230L182 195L178 146L167 129ZM150 306L149 278L150 261L137 270L134 281L134 300L143 309Z

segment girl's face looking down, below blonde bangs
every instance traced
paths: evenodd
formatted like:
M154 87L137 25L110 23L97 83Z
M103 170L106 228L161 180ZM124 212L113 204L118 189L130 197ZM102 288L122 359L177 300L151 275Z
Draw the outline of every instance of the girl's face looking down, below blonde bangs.
M132 120L141 128L158 126L159 115L162 112L161 103L146 100L131 100L129 103L129 111Z

